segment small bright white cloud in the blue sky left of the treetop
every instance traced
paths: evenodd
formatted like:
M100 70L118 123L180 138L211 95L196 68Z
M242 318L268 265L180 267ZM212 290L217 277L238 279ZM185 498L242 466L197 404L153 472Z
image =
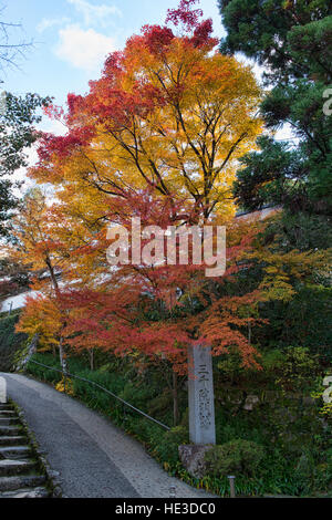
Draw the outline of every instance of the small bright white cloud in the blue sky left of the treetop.
M61 29L59 35L56 56L87 72L100 69L105 56L115 50L113 38L93 29L83 30L79 25L69 25Z

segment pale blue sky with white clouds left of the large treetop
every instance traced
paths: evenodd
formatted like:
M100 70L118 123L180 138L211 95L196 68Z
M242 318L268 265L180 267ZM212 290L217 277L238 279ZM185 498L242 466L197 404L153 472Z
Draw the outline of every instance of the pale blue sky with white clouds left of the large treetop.
M87 90L98 77L105 56L122 49L145 23L163 23L168 8L179 0L0 0L7 3L6 21L22 23L15 39L33 40L34 46L10 70L4 89L15 93L52 95L63 104L69 92ZM217 0L200 0L206 18L212 18L215 33L224 31Z

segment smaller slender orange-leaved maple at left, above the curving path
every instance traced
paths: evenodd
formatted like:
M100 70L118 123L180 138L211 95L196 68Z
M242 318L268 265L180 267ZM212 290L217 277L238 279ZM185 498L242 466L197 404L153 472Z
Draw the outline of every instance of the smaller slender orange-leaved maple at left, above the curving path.
M65 278L68 253L54 231L59 223L59 214L52 211L45 195L35 188L25 195L13 219L12 232L17 242L14 258L30 268L31 288L40 292L28 297L18 331L39 334L41 344L51 345L53 352L59 346L62 362L62 331L68 316L61 306L58 272L61 267Z

